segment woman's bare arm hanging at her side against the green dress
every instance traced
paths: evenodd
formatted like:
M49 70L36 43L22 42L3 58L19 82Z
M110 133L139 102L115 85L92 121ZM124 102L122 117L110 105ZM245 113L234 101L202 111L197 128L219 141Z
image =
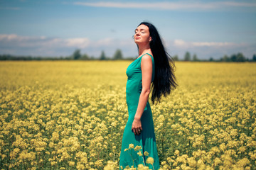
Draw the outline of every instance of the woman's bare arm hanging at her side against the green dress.
M134 121L132 123L132 131L135 135L139 135L139 130L142 130L142 113L146 107L146 102L149 99L150 94L150 84L152 78L152 59L149 55L142 56L141 61L142 68L142 92L139 96L138 108L134 116Z

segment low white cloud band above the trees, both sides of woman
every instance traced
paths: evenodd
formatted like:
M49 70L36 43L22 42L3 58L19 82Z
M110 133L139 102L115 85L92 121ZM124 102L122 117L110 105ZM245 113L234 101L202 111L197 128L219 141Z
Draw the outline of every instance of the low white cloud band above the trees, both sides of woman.
M166 50L170 55L183 57L186 51L196 53L198 58L223 57L242 52L246 57L256 53L255 44L234 42L193 42L181 39L165 40ZM68 56L75 49L87 55L99 57L102 50L112 57L117 49L121 49L125 57L137 56L137 45L132 38L119 40L104 38L89 40L88 38L48 38L45 36L29 37L16 34L0 35L0 54L31 56Z

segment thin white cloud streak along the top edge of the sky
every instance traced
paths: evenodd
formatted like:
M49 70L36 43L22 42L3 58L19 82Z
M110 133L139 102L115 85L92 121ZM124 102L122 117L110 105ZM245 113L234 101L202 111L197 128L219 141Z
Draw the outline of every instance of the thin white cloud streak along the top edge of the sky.
M205 2L205 1L176 1L176 2L81 2L77 1L75 5L80 6L95 6L105 8L151 8L151 9L162 9L162 10L209 10L209 9L220 9L228 7L255 7L256 3L245 3L245 2L233 2L233 1L218 1L218 2Z

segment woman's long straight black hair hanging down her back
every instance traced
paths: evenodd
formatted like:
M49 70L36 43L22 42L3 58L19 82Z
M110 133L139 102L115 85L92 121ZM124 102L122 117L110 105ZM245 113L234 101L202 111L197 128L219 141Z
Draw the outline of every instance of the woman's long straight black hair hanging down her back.
M171 91L176 89L176 86L178 86L174 75L174 60L164 49L160 35L153 24L142 22L139 26L140 25L145 25L149 28L149 34L151 36L149 45L155 62L155 76L152 83L153 91L151 101L153 104L155 101L156 103L160 103L161 96L170 94Z

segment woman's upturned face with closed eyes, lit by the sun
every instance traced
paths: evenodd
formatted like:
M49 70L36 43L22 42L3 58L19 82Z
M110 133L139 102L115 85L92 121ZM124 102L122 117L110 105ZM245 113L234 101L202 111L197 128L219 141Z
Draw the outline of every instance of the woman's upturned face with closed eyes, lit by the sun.
M151 37L149 34L149 28L145 25L140 25L136 28L134 34L134 42L138 44L149 44Z

